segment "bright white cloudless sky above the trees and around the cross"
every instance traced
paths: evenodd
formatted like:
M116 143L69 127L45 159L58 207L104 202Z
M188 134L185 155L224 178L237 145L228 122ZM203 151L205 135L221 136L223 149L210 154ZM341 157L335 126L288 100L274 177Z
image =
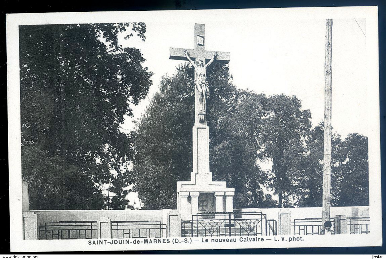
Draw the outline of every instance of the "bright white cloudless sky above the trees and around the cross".
M172 13L170 13L172 15ZM224 13L226 16L226 13ZM226 20L217 16L184 20L173 17L146 22L146 41L122 40L146 58L154 72L149 97L134 108L134 118L144 112L158 90L161 77L173 74L182 62L169 60L169 47L193 48L193 27L205 24L206 49L230 52L229 69L234 84L256 93L295 95L310 109L312 125L323 120L325 20ZM179 17L176 17L179 19ZM224 20L222 20L224 19ZM363 32L362 32L363 30ZM334 19L332 33L332 126L348 133L368 135L366 92L365 19ZM127 118L122 128L132 130Z

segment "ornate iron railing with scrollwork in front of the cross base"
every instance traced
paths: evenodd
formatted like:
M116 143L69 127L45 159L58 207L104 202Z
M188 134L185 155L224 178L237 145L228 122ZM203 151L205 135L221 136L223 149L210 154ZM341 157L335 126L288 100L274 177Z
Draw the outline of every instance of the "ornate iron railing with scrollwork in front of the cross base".
M183 237L276 235L276 220L261 212L210 212L181 221Z

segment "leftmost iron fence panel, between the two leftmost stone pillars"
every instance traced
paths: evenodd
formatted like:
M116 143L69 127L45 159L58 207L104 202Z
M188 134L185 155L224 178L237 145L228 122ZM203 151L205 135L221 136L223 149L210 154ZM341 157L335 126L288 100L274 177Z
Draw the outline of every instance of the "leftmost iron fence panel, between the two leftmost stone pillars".
M39 239L98 238L97 221L59 221L39 225Z

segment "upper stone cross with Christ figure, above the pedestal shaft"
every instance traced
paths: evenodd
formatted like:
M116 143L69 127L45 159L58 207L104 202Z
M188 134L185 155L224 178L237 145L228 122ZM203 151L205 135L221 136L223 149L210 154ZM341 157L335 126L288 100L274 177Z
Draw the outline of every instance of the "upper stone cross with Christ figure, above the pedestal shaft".
M170 48L169 59L186 60L195 67L195 123L206 124L206 98L209 86L206 81L207 67L214 60L229 63L229 52L205 50L205 25L194 26L194 49Z

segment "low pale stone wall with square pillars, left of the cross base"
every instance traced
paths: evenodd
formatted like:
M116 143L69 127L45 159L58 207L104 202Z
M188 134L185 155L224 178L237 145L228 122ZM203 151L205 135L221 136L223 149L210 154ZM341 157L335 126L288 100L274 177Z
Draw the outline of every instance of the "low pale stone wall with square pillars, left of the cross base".
M64 221L97 221L98 237L103 238L106 238L106 235L111 237L111 222L114 221L160 222L159 224L166 225L166 237L181 235L178 210L30 210L24 212L24 218L24 229L27 230L24 233L25 239L37 239L39 226ZM103 227L105 229L102 229Z

